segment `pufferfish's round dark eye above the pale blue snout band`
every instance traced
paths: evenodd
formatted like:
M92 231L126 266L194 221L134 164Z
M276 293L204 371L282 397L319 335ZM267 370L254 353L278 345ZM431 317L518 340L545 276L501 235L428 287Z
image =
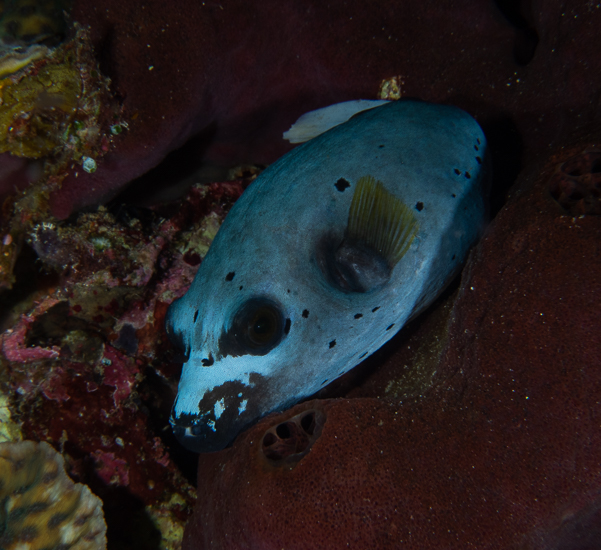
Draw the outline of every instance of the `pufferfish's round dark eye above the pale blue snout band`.
M237 311L232 329L241 347L253 355L265 355L284 335L284 316L271 300L253 298Z

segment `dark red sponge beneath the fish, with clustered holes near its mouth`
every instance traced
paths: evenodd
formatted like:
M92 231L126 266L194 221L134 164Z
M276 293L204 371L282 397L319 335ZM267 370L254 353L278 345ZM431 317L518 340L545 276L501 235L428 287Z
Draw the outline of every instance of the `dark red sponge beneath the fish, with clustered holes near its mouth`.
M309 401L201 455L184 548L596 548L601 216L552 193L562 167L596 174L594 143L520 178L426 391Z

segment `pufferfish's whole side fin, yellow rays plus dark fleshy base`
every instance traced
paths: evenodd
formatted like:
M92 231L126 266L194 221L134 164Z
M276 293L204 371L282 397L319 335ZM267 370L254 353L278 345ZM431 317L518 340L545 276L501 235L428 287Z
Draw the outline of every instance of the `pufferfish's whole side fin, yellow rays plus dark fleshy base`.
M318 263L345 292L369 292L386 284L418 231L411 209L372 176L357 181L340 243L324 241Z

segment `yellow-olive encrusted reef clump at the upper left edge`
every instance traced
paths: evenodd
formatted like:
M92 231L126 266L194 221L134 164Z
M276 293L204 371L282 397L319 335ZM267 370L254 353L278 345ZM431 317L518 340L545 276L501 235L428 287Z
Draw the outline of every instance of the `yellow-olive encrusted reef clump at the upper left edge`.
M0 288L13 282L24 234L33 224L50 220L52 190L60 188L67 170L96 166L110 148L111 127L120 116L86 29L76 25L71 40L54 49L35 48L27 55L4 52L0 58L0 166L22 157L37 171L36 176L22 174L36 180L22 194L14 194L13 187L23 184L11 177L22 165L9 166L0 178L0 198L5 199L0 234L14 243L1 245Z

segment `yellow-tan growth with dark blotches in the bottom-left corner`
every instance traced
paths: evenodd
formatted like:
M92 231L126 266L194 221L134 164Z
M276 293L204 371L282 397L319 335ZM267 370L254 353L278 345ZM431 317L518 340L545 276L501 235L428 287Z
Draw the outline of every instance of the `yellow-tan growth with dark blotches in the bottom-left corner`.
M48 443L0 443L0 548L106 549L101 500Z

